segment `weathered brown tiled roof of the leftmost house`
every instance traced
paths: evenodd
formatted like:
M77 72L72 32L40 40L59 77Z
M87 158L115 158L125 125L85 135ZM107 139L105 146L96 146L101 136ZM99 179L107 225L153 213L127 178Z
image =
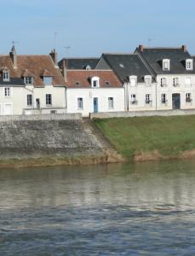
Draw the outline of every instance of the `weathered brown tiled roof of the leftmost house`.
M0 83L19 85L24 84L24 76L33 77L34 86L44 86L43 73L46 72L53 77L54 86L65 86L65 81L60 73L60 68L54 67L54 62L50 55L17 55L17 68L14 68L9 55L0 55L0 70L9 69L10 81L3 82L3 73L0 72Z

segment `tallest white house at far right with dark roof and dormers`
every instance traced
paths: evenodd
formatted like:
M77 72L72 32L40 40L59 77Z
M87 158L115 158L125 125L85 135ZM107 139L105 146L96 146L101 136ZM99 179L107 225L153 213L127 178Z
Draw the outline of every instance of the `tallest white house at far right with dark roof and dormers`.
M195 108L195 67L186 46L146 48L135 53L141 57L157 82L157 109Z

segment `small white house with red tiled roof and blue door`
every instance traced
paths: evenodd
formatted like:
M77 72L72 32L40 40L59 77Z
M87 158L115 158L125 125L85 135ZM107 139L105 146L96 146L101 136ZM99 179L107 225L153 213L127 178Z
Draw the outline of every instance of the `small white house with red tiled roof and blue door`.
M112 70L64 70L67 113L124 111L124 88Z

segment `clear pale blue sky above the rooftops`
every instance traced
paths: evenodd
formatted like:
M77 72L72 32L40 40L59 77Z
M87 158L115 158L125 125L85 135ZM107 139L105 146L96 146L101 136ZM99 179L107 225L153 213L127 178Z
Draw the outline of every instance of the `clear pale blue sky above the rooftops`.
M0 0L0 53L59 59L133 52L139 44L177 47L195 55L194 0ZM67 49L67 47L70 47Z

